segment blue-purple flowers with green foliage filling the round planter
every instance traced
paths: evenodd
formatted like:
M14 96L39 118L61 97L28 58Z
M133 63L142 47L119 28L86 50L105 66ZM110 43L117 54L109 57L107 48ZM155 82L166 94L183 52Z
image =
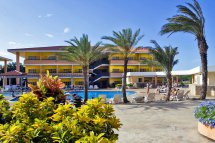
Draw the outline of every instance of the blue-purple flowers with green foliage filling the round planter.
M194 116L204 125L215 128L215 101L202 102L195 109Z

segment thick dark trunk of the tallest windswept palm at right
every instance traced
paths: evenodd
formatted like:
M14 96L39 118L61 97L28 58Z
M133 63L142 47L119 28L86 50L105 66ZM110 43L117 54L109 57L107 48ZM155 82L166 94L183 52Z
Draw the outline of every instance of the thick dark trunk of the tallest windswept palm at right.
M200 99L204 100L207 95L207 86L208 86L208 63L207 63L207 50L208 45L205 38L198 39L198 47L201 56L201 64L202 64L202 89Z

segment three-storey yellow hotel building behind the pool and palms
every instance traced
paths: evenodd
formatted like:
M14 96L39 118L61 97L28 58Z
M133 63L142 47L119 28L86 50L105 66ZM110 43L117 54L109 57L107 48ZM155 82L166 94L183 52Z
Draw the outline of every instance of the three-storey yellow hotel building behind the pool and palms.
M20 57L24 58L25 72L28 83L35 84L38 77L47 70L52 75L57 75L66 85L82 85L83 74L82 67L75 62L59 59L59 53L63 52L65 46L51 46L51 47L35 47L35 48L20 48L8 49L16 55L16 63L19 65ZM153 59L147 47L136 48L135 53L129 56L128 61L128 75L133 72L158 72L161 71L159 67L150 65L143 65L140 63L144 59ZM106 88L113 84L121 83L123 73L123 57L115 53L109 55L90 65L90 84L96 84L100 88ZM19 66L17 66L19 71ZM162 79L154 76L128 76L128 83L144 83L150 81L157 84Z

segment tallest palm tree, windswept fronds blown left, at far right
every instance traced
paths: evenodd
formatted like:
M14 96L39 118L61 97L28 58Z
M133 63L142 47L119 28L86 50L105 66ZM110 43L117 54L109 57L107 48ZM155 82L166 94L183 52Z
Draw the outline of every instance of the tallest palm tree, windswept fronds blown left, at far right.
M198 41L198 49L201 56L202 64L202 90L201 99L206 98L207 94L207 50L208 45L205 39L205 18L199 3L194 0L192 3L187 3L187 6L177 6L179 14L168 18L167 24L163 25L161 35L173 34L176 32L190 33L195 36Z

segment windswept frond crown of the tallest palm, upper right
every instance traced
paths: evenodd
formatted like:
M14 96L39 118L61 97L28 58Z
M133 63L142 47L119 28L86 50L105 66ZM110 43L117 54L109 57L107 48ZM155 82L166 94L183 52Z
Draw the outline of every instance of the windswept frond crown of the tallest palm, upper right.
M161 28L160 34L169 34L176 32L186 32L195 37L204 36L205 19L199 3L194 0L193 4L187 3L187 6L178 5L178 14L168 18L168 23Z

